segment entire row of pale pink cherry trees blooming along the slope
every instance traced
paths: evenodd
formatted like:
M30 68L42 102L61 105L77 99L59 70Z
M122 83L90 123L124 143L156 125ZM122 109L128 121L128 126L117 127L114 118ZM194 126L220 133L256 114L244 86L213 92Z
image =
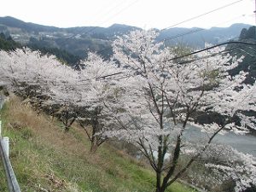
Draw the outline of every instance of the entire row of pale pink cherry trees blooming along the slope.
M256 161L250 154L212 143L218 134L256 129L255 83L246 73L231 77L241 58L214 48L175 59L172 49L154 40L154 31L135 31L113 42L113 58L90 53L79 70L53 56L30 49L0 51L0 84L58 116L68 131L75 120L96 151L110 137L133 143L156 175L156 192L164 192L195 160L221 153L206 166L236 183L236 191L256 184ZM218 113L221 123L201 125L201 113ZM236 123L235 123L236 119ZM91 131L88 130L88 125ZM205 137L185 137L188 125ZM221 150L221 151L219 151ZM182 167L178 162L184 157ZM179 166L178 166L179 165Z

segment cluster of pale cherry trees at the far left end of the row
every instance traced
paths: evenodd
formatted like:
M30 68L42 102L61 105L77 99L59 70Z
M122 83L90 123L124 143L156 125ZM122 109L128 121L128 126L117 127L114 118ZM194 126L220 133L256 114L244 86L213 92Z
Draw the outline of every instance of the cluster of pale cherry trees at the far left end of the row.
M26 48L0 51L0 57L0 78L9 90L22 96L23 102L32 103L37 110L57 104L57 112L61 111L59 118L66 129L73 123L70 106L78 96L73 86L78 74L71 67L62 65L53 55L41 55Z

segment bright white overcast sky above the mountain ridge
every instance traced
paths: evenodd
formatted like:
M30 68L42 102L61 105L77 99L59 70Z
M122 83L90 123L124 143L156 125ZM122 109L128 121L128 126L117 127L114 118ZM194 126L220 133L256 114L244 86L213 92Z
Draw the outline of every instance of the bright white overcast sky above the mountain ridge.
M234 4L218 9L230 3ZM203 15L214 9L218 10ZM3 0L0 16L58 27L119 23L143 29L209 28L233 23L255 25L254 9L254 0ZM203 16L189 20L198 15ZM189 21L177 25L184 20Z

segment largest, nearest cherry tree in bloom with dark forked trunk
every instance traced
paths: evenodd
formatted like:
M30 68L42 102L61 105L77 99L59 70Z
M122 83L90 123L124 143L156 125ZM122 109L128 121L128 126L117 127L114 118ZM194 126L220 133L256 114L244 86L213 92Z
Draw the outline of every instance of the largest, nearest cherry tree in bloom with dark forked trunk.
M218 54L222 49L214 48L175 61L170 49L154 42L156 37L154 31L135 31L114 41L114 57L128 78L123 79L125 91L119 96L122 110L114 115L122 129L107 135L136 143L154 169L156 192L164 192L207 153L218 134L244 134L248 126L255 129L255 118L243 112L256 110L256 89L255 84L242 84L246 73L229 75L241 58ZM218 113L224 122L196 124L199 112ZM205 141L196 143L184 137L189 125L204 132ZM178 168L182 155L189 160ZM236 180L236 191L240 191L256 182L255 160L235 152L234 156L236 163L217 167Z

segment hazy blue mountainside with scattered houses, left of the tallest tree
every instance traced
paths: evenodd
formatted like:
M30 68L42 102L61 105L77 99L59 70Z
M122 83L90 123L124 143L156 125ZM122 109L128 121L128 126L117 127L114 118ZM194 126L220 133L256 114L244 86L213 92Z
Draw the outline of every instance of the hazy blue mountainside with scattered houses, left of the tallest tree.
M13 17L0 17L0 32L11 36L20 44L33 47L65 49L68 53L84 58L88 49L102 52L103 56L112 54L108 49L115 35L137 29L134 26L114 24L108 28L98 26L78 26L58 28L26 23Z

